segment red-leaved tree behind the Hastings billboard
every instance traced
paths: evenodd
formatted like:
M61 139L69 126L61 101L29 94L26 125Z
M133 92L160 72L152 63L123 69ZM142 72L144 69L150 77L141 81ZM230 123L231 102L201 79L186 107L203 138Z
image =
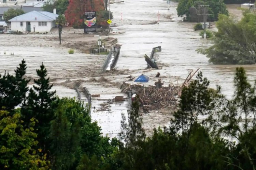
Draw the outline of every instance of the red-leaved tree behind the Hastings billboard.
M102 10L104 10L103 0L69 0L69 6L65 12L65 17L71 26L80 27L83 23L85 12L99 12Z

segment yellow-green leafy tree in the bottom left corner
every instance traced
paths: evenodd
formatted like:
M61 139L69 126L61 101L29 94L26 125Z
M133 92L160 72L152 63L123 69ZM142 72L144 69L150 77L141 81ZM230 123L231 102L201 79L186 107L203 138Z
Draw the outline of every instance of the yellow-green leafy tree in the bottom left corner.
M36 120L30 120L30 128L22 125L20 112L13 115L0 111L0 169L48 169L46 155L37 153L37 134L33 126Z

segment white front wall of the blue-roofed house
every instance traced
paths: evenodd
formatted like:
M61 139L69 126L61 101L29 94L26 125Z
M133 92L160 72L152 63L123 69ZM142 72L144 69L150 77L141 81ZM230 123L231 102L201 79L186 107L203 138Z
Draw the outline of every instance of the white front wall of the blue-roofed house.
M14 21L11 22L11 29L13 31L25 32L27 31L26 26L27 26L26 21L23 22L23 26L20 26L20 22L14 22ZM49 32L53 27L53 22L48 21L47 26L39 26L38 21L31 21L30 27L31 27L30 28L31 32L34 31L34 27L35 27L35 32L46 32L46 31Z

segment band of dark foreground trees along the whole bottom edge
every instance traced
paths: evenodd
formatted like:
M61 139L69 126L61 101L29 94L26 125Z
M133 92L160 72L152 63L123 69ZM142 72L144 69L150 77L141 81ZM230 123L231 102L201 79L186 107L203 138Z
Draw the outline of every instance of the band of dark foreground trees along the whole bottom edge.
M149 137L137 96L111 141L83 103L56 97L43 64L30 89L25 73L22 61L15 75L0 77L1 169L255 169L256 85L243 68L236 69L232 99L199 72L183 88L168 128Z

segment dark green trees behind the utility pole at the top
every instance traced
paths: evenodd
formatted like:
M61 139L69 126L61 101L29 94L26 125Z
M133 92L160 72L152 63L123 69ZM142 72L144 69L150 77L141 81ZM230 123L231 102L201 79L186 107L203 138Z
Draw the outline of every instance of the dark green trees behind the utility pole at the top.
M195 2L198 2L197 0L179 0L179 4L177 6L177 14L178 16L185 16L185 20L190 21L190 12L189 8L195 6ZM218 14L225 14L228 15L228 11L226 8L226 5L220 1L220 0L205 0L204 1L205 5L209 5L209 14L210 15L208 18L210 20L217 20L218 19Z

